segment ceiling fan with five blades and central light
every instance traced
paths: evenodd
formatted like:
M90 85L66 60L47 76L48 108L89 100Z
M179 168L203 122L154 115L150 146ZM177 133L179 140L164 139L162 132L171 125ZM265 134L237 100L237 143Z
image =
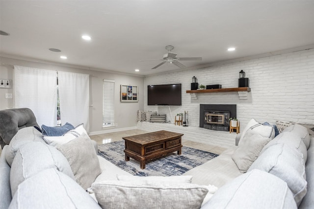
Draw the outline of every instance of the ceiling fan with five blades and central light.
M174 46L171 46L171 45L166 46L166 50L168 51L168 53L164 54L162 59L158 59L158 60L163 60L163 62L158 64L152 69L157 69L159 66L165 63L171 63L178 66L179 68L184 68L185 65L179 62L179 60L183 60L183 61L202 60L202 57L177 57L176 53L171 52L172 49L174 49ZM141 60L141 62L142 61L152 61L152 60Z

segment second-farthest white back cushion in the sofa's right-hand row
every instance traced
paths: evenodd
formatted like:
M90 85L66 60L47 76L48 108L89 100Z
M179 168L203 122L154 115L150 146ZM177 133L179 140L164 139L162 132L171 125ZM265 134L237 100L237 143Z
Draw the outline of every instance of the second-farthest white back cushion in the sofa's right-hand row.
M262 152L273 144L284 143L291 148L295 148L298 152L302 153L304 162L307 161L308 152L303 140L296 134L290 132L283 132L264 146Z

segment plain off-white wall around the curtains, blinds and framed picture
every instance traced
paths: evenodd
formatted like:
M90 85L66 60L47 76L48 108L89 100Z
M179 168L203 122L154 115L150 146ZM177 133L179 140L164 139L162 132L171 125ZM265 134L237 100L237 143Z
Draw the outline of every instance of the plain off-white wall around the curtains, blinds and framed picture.
M144 105L144 78L126 74L109 73L97 70L83 70L75 67L65 67L62 64L46 64L45 62L31 62L19 59L0 57L0 78L13 80L13 65L32 68L70 71L90 75L90 132L100 134L117 130L125 130L136 127L136 112L143 110ZM115 122L117 126L113 129L103 129L103 79L115 80ZM27 81L25 81L27 82ZM14 80L13 80L14 85ZM121 103L120 85L138 86L138 102ZM0 89L0 110L13 106L13 99L5 99L5 93L13 93L13 89ZM13 95L14 97L14 95ZM79 113L78 113L79 114ZM62 116L61 116L62 117ZM65 122L65 121L64 121Z

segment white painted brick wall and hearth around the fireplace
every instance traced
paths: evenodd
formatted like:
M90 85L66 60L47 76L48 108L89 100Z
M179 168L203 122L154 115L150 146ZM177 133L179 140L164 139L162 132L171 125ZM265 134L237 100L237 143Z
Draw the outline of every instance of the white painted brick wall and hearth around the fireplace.
M240 100L238 93L199 93L192 100L186 90L190 90L192 77L198 78L199 84L221 84L223 88L237 87L239 71L244 70L250 80L251 92L247 100ZM182 106L169 107L147 105L147 85L182 83ZM144 110L154 110L158 114L167 114L174 120L177 113L189 113L189 125L178 130L185 134L185 139L204 143L232 147L235 135L229 132L211 131L199 126L200 104L236 104L240 131L251 118L263 122L275 123L276 120L300 123L314 123L314 49L296 51L281 55L235 62L198 70L183 70L160 75L147 76L144 84ZM161 128L174 127L163 124ZM155 123L138 124L138 128L160 130ZM177 127L176 127L177 128ZM170 130L171 130L170 129ZM190 131L188 131L189 129ZM186 130L186 131L185 131ZM191 132L191 134L187 134Z

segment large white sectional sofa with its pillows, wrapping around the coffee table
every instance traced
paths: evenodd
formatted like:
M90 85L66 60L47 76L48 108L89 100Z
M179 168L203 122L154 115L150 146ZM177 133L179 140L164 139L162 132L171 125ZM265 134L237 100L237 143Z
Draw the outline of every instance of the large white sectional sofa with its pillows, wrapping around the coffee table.
M81 139L81 144L61 150L47 144L37 129L26 127L0 156L0 208L314 208L314 138L307 129L295 124L274 139L262 136L267 142L258 141L261 150L253 151L253 160L241 151L251 145L245 143L245 134L238 148L178 178L134 180L104 158L95 159L91 141ZM65 157L76 146L85 159L81 162ZM78 178L79 169L84 175ZM94 193L85 191L90 186Z

